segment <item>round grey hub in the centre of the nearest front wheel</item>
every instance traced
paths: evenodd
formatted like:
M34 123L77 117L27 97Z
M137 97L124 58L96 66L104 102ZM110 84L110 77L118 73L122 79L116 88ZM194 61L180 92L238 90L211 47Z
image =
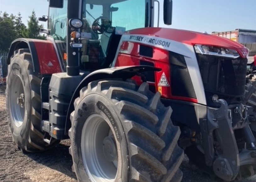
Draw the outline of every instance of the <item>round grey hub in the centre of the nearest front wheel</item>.
M103 140L103 153L109 162L117 160L117 148L114 136L107 136Z

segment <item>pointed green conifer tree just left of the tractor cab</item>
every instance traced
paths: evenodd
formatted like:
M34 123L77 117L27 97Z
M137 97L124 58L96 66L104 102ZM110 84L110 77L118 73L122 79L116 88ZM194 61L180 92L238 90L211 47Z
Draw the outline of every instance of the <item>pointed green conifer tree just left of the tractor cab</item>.
M43 28L43 25L39 25L39 22L36 18L36 13L33 10L31 16L28 20L28 28L25 32L26 38L31 39L45 39L44 35L40 35L40 29Z

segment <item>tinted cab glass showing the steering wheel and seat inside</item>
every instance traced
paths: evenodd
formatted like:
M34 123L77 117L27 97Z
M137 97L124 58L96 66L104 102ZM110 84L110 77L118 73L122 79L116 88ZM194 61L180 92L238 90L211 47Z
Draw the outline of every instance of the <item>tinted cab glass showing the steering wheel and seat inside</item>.
M146 0L83 0L81 32L90 40L81 40L80 69L109 67L114 60L121 35L131 29L145 27Z

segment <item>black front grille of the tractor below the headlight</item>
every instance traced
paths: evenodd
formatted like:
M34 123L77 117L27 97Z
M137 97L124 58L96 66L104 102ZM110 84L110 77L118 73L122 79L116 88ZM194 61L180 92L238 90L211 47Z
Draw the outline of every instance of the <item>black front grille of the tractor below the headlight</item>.
M241 102L245 92L247 59L221 58L197 54L207 104L214 94L229 104Z

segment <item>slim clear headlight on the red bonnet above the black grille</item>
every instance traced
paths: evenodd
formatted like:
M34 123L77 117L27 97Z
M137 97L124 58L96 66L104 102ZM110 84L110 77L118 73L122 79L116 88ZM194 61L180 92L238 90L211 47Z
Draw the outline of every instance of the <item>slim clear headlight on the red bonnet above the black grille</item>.
M203 55L213 55L213 56L220 56L220 57L228 57L228 58L238 58L240 55L237 51L232 49L226 49L223 47L215 47L211 45L195 45L195 51L198 54Z

